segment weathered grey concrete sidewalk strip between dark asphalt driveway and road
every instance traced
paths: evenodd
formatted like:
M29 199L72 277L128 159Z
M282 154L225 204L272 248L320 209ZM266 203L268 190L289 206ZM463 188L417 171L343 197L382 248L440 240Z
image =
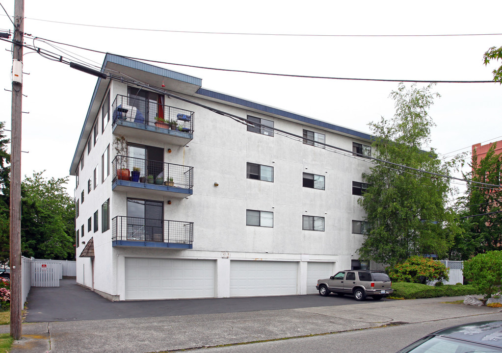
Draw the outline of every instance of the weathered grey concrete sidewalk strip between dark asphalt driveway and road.
M11 353L46 352L49 347L51 353L144 353L339 332L391 323L464 316L473 316L472 321L476 321L482 320L483 314L501 311L500 308L444 303L461 299L463 297L368 300L362 304L282 310L24 323L23 339L14 344ZM0 326L0 332L9 332L9 326Z

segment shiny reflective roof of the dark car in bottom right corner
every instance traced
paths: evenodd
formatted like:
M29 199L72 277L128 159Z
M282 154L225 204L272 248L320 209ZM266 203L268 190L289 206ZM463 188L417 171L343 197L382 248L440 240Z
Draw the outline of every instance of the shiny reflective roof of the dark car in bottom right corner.
M432 334L502 347L502 321L500 320L466 323L444 328Z

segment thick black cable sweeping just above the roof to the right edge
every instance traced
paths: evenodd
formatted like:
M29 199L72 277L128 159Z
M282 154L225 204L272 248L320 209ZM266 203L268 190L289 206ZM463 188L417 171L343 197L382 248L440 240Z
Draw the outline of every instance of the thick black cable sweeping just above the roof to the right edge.
M27 34L27 35L31 36L29 34ZM79 47L79 46L75 46L75 45L72 45L72 44L66 44L66 43L56 42L56 41L52 41L52 40L46 39L46 38L41 38L41 37L35 37L35 38L36 39L43 39L44 41L48 41L48 42L52 42L52 43L56 43L56 44L70 46L70 47L73 47L73 48L78 48L78 49L82 49L82 50L91 51L91 52L94 52L94 53L107 54L106 52L102 52L102 51L98 51L98 50L94 50L94 49L88 49L88 48L84 48L84 47ZM204 70L238 72L238 73L256 74L256 75L267 75L267 76L297 77L297 78L315 78L315 79L345 80L345 81L418 82L418 83L431 83L431 82L435 82L435 83L494 83L494 81L444 81L444 80L401 80L401 79L397 80L397 79L348 78L348 77L330 77L330 76L309 76L309 75L295 75L295 74L278 74L278 73L271 73L271 72L260 72L260 71L249 71L249 70L233 70L233 69L222 69L222 68L214 68L214 67L207 67L207 66L179 64L179 63L171 63L171 62L166 62L166 61L159 61L159 60L151 60L151 59L131 57L131 56L120 55L120 54L116 54L116 55L121 56L123 58L131 59L131 60L140 60L140 61L145 61L145 62L150 62L150 63L157 63L157 64L166 64L166 65L191 67L191 68L204 69Z

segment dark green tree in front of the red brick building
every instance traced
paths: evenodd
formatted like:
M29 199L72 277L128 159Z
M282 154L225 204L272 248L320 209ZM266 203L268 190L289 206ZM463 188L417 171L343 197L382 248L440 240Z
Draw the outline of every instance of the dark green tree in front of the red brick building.
M502 153L496 154L496 143L493 143L481 160L476 152L472 155L471 171L464 178L474 182L500 185ZM497 250L502 244L502 188L488 187L469 183L466 196L460 199L463 209L460 213L461 226L468 244L469 256L490 250ZM495 212L495 213L494 213ZM460 244L461 246L461 244ZM461 249L461 248L460 248ZM469 256L464 256L466 260Z

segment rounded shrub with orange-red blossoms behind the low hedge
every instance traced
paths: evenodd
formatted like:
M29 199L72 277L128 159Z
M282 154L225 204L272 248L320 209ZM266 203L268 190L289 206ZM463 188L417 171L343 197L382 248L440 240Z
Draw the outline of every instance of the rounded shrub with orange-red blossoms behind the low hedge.
M393 281L422 284L448 280L449 271L441 262L421 256L412 256L386 270Z

